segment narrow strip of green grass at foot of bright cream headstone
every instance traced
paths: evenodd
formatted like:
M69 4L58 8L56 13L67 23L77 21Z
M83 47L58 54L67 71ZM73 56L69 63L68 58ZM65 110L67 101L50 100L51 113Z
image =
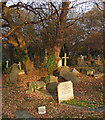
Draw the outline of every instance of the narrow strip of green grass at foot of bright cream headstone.
M76 106L80 106L80 107L89 107L89 108L96 108L96 107L103 105L102 103L89 102L89 101L76 100L76 99L62 101L61 103L76 105Z

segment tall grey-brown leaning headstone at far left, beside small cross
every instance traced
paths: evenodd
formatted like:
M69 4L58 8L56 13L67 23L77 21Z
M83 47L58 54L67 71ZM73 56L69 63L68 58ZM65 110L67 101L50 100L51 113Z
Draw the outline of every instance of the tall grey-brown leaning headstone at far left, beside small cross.
M19 73L18 65L14 63L11 67L11 72L6 81L16 84L18 73Z

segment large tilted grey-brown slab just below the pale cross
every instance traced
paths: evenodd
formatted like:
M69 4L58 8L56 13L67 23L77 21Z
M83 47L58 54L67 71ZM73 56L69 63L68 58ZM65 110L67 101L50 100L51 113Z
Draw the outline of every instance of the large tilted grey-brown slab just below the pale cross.
M76 77L72 72L70 72L65 66L61 68L59 75L67 81L72 81L72 83L80 82L80 79Z

